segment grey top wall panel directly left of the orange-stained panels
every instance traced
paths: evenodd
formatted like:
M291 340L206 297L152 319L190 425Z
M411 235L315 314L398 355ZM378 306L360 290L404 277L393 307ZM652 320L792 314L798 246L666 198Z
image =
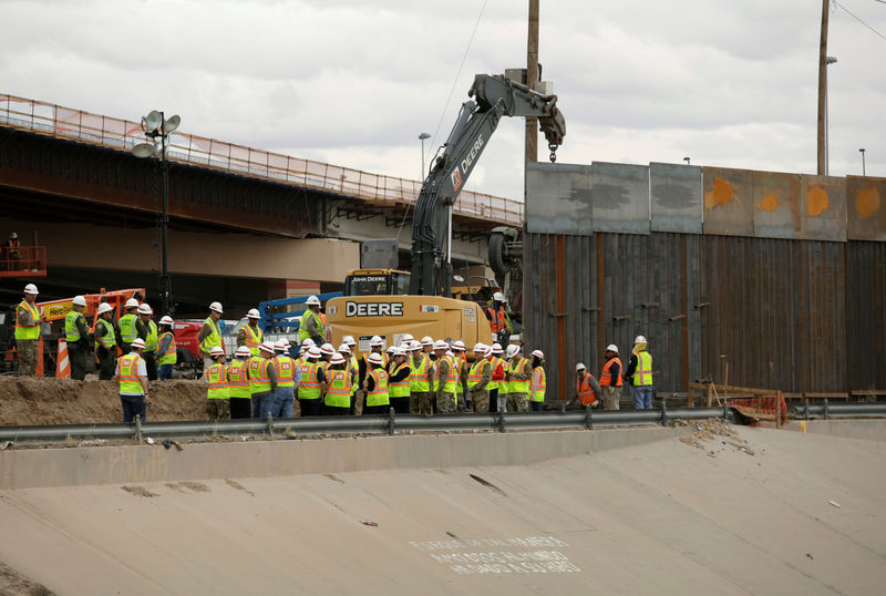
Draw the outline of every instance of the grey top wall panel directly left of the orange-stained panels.
M701 167L649 164L652 232L701 234Z

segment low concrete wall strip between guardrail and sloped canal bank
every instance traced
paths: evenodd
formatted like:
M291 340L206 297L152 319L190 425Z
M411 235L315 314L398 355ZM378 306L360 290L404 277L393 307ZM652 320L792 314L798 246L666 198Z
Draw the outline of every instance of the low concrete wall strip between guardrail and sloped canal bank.
M414 467L523 465L659 441L686 428L423 434L34 449L0 452L0 490L268 477Z

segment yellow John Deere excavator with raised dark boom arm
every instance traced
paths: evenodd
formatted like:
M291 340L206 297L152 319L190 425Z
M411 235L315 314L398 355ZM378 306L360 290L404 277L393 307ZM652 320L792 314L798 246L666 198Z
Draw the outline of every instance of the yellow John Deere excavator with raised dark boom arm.
M537 117L552 161L566 135L566 123L556 95L544 95L504 75L477 74L468 95L473 99L462 104L415 203L412 271L394 266L351 271L344 296L326 305L332 343L353 336L363 352L369 351L372 336L396 346L404 333L462 339L468 350L477 341L492 343L481 306L451 298L452 206L503 116Z

